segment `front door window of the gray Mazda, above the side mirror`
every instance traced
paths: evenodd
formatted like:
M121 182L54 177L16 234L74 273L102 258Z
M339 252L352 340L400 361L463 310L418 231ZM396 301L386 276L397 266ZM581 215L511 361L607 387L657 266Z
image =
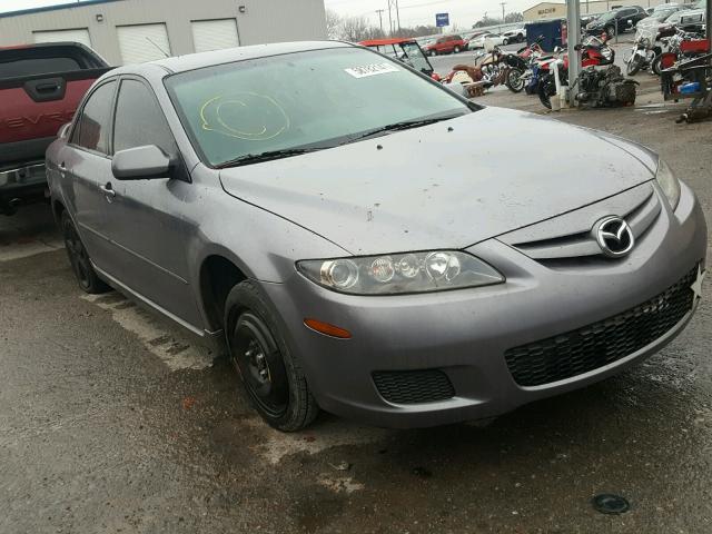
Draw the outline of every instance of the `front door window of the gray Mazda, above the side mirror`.
M167 155L176 152L174 137L154 92L136 80L119 88L113 126L113 151L156 145Z

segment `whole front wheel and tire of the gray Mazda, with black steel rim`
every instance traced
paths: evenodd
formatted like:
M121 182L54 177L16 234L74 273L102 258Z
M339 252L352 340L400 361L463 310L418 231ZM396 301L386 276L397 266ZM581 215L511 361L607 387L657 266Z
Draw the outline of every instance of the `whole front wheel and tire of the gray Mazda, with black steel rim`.
M227 346L261 418L279 431L296 432L315 419L319 407L270 309L254 283L235 286L225 303Z

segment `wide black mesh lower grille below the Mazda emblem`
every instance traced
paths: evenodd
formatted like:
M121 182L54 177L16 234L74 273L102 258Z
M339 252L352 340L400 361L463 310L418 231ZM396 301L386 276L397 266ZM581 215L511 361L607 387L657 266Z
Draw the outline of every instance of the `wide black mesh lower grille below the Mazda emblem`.
M640 350L670 330L692 309L695 267L675 285L627 312L577 330L506 350L521 386L540 386L581 375Z

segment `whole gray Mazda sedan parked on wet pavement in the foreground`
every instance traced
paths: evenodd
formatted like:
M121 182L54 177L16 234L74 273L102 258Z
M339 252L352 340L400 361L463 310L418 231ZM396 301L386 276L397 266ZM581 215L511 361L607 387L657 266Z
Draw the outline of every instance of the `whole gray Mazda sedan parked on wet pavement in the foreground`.
M80 286L225 339L261 417L492 417L684 328L706 227L655 154L339 42L105 75L47 152Z

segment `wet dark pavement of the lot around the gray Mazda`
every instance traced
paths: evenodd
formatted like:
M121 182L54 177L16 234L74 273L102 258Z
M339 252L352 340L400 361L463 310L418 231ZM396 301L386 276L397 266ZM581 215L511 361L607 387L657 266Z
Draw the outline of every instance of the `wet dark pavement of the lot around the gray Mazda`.
M553 116L659 150L712 220L712 121L675 125L646 77L637 108ZM2 534L712 532L709 298L640 367L485 427L323 415L284 435L209 347L118 294L83 296L60 246L44 206L0 218ZM594 511L601 493L631 510Z

